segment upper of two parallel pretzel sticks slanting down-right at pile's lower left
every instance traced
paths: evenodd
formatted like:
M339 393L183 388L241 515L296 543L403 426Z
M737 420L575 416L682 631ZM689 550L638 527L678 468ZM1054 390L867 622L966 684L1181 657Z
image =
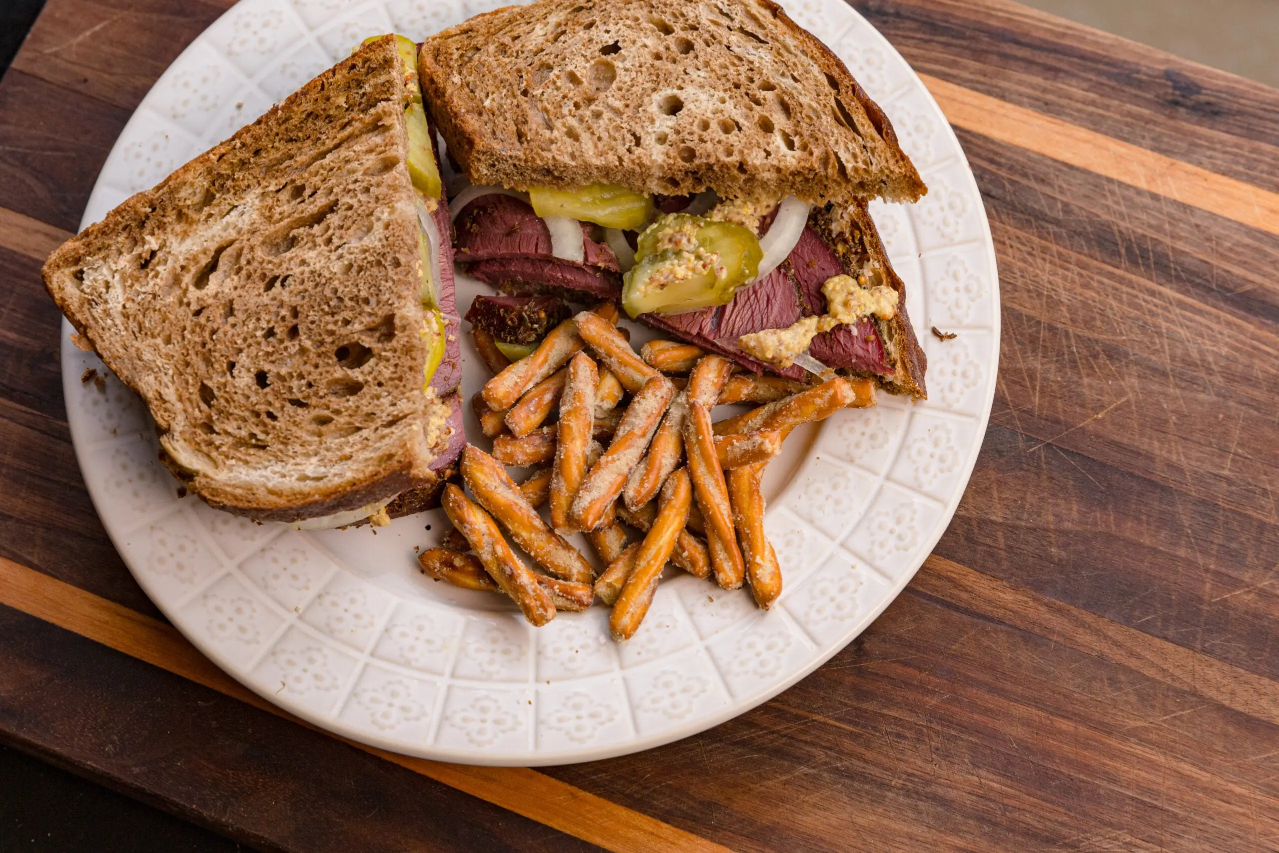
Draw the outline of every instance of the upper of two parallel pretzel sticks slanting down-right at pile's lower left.
M510 538L547 572L578 583L588 582L595 574L586 558L546 526L501 463L471 444L462 451L462 480L480 505L506 528Z

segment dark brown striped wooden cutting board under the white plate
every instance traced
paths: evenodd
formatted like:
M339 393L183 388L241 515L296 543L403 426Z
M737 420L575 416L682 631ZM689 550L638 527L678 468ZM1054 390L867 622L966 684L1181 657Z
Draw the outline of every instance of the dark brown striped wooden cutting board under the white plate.
M459 767L223 675L75 464L40 263L226 5L49 0L0 81L5 742L262 849L1279 847L1279 92L998 0L856 3L954 124L999 254L999 391L950 529L749 714Z

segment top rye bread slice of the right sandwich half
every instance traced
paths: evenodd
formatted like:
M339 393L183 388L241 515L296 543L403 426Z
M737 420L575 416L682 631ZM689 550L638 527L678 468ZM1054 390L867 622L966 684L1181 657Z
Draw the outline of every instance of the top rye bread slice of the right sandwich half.
M427 38L418 68L475 183L810 203L926 192L879 106L770 0L540 0Z

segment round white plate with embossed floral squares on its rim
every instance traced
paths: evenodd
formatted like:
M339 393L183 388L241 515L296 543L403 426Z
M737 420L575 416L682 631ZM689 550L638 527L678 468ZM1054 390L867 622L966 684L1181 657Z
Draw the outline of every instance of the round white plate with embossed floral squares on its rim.
M229 137L363 37L422 38L498 5L243 0L142 101L83 223ZM64 335L68 418L93 504L147 595L201 651L271 702L356 740L545 765L723 723L811 673L888 606L950 520L986 430L999 353L995 254L963 151L902 56L840 0L788 10L880 102L929 184L920 203L877 203L874 215L908 286L930 399L881 395L810 442L792 439L796 464L773 466L766 483L785 579L778 605L764 613L746 591L673 577L638 634L616 645L604 607L537 629L498 596L425 579L413 546L435 542L439 510L376 533L304 533L179 499L142 404L114 377L105 394L81 382L102 364ZM459 280L463 311L475 286ZM958 338L938 340L934 325ZM482 375L468 356L469 396Z

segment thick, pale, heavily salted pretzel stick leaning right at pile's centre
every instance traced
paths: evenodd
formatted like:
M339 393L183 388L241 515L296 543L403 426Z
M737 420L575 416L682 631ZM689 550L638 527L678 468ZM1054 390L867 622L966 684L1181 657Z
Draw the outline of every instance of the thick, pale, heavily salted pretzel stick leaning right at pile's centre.
M591 467L573 499L569 517L578 529L593 531L604 523L613 501L627 483L627 474L643 457L657 421L674 395L675 386L661 373L650 379L636 393L618 423L609 449Z

